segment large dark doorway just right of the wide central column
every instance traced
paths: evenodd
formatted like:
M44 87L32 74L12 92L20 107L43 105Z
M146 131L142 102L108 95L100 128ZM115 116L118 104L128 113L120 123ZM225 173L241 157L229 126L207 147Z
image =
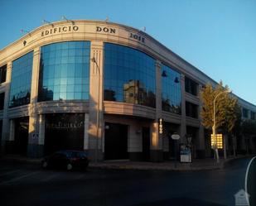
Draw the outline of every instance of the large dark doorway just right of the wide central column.
M104 159L128 159L128 126L105 123Z

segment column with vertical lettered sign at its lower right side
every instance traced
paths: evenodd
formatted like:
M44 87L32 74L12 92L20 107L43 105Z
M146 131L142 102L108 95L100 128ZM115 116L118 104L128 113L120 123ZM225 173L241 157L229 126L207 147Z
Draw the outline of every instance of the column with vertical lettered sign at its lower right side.
M152 122L151 141L150 141L150 159L152 161L163 160L163 141L162 134L158 132L158 120L162 118L162 75L161 75L161 62L156 61L156 118ZM164 120L163 120L164 121Z

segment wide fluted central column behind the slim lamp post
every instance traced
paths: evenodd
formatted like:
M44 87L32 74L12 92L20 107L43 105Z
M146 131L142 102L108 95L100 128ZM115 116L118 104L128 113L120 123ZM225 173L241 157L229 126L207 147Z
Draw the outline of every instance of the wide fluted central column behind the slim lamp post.
M104 43L91 41L89 72L89 156L92 160L103 160L102 133L104 126L103 108L103 55Z

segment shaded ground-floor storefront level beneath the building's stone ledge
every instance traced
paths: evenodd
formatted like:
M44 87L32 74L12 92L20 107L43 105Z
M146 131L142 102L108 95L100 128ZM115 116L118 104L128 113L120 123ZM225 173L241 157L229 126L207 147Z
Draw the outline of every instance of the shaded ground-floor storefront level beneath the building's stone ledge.
M47 113L39 117L38 133L31 134L29 121L29 117L10 119L9 137L1 141L5 153L40 157L60 150L80 150L98 160L174 160L180 144L191 137L192 158L213 156L210 132L204 131L201 137L199 127L186 126L186 136L176 141L171 135L182 132L181 124L175 122L164 121L160 134L158 122L149 118L106 114L95 128L89 113ZM96 136L92 128L99 129ZM227 154L232 155L227 139Z

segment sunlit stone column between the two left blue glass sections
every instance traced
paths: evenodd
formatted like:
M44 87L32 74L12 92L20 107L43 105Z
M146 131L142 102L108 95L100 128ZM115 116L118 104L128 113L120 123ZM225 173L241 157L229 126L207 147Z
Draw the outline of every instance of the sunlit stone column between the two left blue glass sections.
M41 124L44 124L44 117L37 113L37 96L38 96L38 81L40 69L40 47L34 49L33 55L33 69L31 77L31 99L29 105L29 126L28 126L28 145L27 156L41 157L43 156L44 132L40 134ZM41 125L41 126L40 126Z

